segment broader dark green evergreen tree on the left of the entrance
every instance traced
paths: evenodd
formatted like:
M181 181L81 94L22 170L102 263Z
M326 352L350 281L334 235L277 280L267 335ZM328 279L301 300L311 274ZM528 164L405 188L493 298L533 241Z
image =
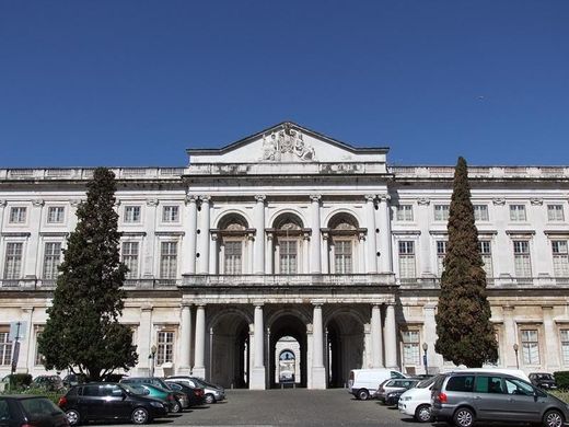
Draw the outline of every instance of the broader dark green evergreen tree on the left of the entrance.
M115 175L98 168L88 184L59 270L49 319L38 337L47 369L70 369L100 380L137 362L131 331L118 323L127 267L119 258Z

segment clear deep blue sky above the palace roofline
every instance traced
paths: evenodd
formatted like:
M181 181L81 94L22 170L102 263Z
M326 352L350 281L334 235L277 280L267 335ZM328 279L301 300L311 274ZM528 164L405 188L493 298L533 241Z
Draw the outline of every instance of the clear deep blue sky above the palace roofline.
M569 1L0 0L0 168L185 165L283 120L569 164Z

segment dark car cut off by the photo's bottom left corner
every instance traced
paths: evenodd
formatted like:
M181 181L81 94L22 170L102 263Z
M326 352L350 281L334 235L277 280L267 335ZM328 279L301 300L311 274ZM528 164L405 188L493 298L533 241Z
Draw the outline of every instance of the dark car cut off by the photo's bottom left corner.
M0 395L2 427L68 427L66 414L50 400L34 395Z

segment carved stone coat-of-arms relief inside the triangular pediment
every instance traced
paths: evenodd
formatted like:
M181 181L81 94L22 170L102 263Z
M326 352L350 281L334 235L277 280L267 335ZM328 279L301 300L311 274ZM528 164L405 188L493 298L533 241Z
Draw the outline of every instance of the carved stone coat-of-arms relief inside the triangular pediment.
M304 143L300 130L293 129L290 123L282 125L282 129L263 135L263 161L290 162L316 160L314 148Z

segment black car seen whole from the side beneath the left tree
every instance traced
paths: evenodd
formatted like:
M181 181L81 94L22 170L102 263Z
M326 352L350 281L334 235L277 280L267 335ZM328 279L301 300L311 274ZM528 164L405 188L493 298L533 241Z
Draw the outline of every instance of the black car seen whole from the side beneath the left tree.
M88 420L130 419L147 424L165 417L166 406L154 399L131 392L128 385L113 382L76 385L59 400L71 426Z

